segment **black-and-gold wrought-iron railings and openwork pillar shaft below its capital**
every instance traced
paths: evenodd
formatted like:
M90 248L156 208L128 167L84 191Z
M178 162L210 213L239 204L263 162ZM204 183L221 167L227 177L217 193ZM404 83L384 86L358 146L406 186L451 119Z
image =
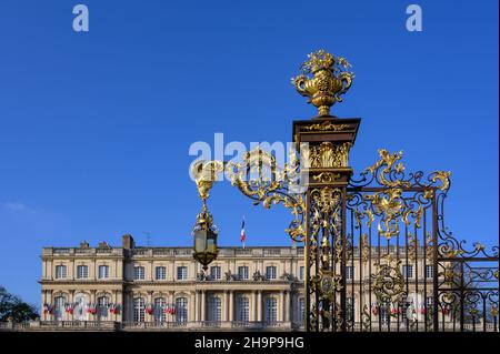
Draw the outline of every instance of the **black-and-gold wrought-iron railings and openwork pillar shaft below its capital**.
M498 246L467 251L447 231L450 173L407 173L402 153L379 154L343 186L311 174L307 328L498 331Z

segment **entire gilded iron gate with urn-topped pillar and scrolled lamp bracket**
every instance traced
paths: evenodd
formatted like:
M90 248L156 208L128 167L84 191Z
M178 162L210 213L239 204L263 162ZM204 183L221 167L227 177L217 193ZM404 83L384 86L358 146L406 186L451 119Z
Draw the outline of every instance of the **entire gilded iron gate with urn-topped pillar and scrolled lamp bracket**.
M324 50L308 57L292 82L318 117L293 122L290 161L257 149L239 163L196 164L202 219L212 220L204 203L222 171L254 204L291 210L287 231L304 243L306 331L498 331L498 246L468 250L446 229L450 173L408 173L401 152L380 150L353 178L361 119L330 115L350 64Z

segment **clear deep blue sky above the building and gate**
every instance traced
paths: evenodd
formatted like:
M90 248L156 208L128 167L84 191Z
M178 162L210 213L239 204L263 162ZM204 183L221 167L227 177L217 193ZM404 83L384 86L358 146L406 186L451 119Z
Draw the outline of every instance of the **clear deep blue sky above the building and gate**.
M86 3L90 32L72 30ZM419 3L423 32L408 32ZM289 141L313 115L290 84L306 54L344 55L357 78L339 117L351 153L404 151L407 170L452 171L447 223L498 243L498 1L0 2L0 284L39 303L42 246L87 240L190 245L200 203L189 145ZM288 211L227 183L211 195L220 243L289 244Z

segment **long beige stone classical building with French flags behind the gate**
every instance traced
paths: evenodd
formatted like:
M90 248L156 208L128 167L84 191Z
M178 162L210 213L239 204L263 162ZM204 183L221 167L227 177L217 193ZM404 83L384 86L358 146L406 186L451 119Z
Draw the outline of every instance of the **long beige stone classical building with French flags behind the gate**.
M136 246L130 235L119 247L44 247L41 259L41 326L294 330L303 323L303 249L294 245L221 247L207 274L191 247ZM390 320L363 291L370 266L347 267L350 316L359 326L367 309L373 325ZM432 267L420 261L401 269L407 301L430 306L432 287L421 284L432 282ZM398 314L402 324L404 315Z

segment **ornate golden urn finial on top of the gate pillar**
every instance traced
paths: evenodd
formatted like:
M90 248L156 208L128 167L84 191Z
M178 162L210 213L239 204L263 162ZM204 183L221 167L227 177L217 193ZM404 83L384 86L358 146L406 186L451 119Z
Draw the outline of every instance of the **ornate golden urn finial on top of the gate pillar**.
M322 49L308 57L300 68L302 74L292 79L292 83L301 95L309 98L308 103L318 108L318 117L329 117L330 107L342 102L340 95L351 87L354 73L344 58L334 58Z

